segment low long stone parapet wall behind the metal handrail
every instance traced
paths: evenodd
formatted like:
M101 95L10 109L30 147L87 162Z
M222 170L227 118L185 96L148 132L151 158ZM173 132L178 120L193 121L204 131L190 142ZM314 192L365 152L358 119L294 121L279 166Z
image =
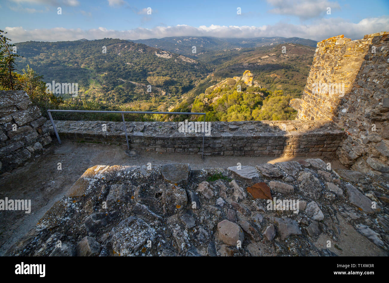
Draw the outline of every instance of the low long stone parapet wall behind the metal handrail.
M47 126L50 126L47 122ZM126 143L122 122L55 121L60 138L74 141ZM103 131L103 124L107 131ZM180 133L177 122L127 122L132 148L161 153L202 154L200 133ZM211 122L205 155L319 156L332 155L344 132L317 122Z

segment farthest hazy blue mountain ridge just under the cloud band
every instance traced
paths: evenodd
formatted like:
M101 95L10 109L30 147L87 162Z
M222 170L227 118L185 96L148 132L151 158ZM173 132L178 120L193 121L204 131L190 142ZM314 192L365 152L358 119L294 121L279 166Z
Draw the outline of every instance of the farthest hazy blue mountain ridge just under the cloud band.
M282 43L301 44L316 47L315 40L299 37L254 37L254 38L216 38L216 37L163 37L139 40L129 40L156 47L165 51L175 52L185 56L196 56L204 51L216 51L234 48L253 48ZM192 47L196 46L196 53Z

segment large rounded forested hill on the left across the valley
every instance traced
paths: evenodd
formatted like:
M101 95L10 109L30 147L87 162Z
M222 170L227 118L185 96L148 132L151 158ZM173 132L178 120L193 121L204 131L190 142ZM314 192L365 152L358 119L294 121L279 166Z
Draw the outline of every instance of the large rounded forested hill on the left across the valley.
M108 105L147 104L153 98L172 102L212 71L207 64L181 55L112 38L22 42L17 47L23 56L16 61L19 70L28 64L45 82L78 83L82 98Z

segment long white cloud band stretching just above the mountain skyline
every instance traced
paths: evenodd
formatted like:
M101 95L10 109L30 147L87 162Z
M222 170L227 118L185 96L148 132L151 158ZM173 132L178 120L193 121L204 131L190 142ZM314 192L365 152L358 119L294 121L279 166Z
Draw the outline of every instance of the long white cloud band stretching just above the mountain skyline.
M364 35L389 30L389 16L366 18L359 23L350 23L343 19L320 19L315 24L277 23L264 26L157 26L155 28L135 28L133 30L98 29L82 30L67 28L25 30L21 26L6 27L12 42L64 41L81 38L100 39L104 37L121 39L146 39L175 36L207 36L207 37L301 37L321 41L323 39L344 34L352 39L363 38Z

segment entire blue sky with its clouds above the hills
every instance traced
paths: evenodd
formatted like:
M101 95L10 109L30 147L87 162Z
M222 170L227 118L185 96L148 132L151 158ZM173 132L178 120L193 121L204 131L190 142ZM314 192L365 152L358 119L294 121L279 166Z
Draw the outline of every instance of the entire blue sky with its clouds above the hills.
M0 6L0 29L12 42L165 36L322 40L338 34L358 39L389 30L388 0L0 0Z

